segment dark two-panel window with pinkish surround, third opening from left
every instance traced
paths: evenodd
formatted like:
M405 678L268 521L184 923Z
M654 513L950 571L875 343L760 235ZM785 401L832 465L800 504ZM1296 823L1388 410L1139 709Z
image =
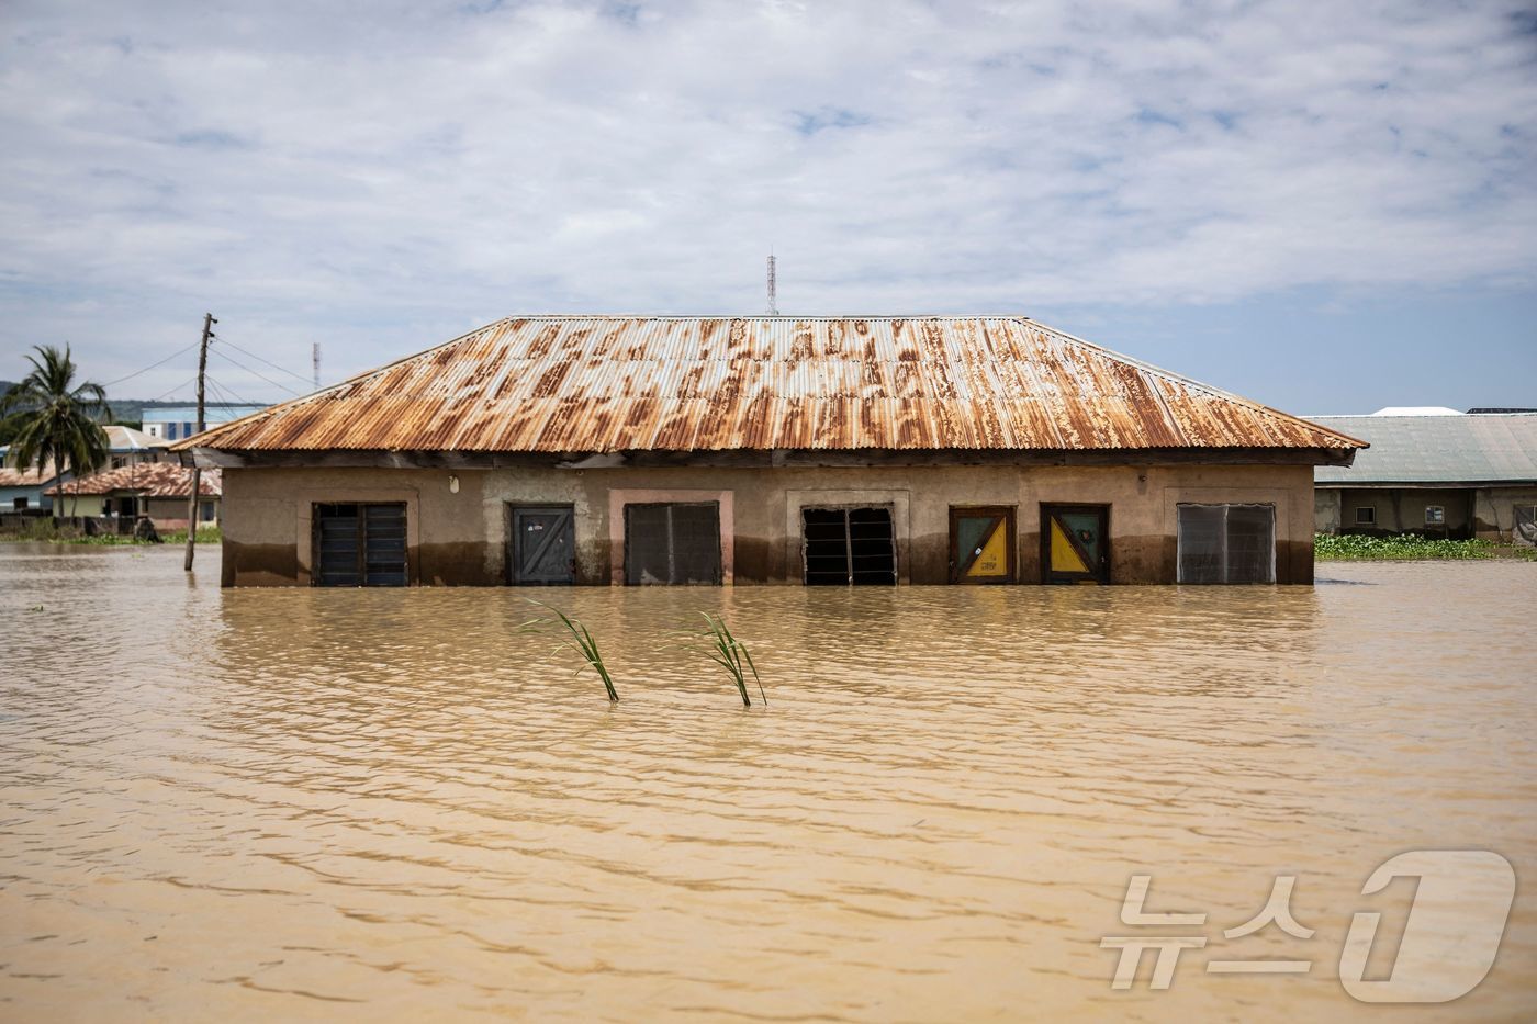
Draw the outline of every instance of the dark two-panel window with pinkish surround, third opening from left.
M721 506L715 501L624 506L624 581L718 584Z

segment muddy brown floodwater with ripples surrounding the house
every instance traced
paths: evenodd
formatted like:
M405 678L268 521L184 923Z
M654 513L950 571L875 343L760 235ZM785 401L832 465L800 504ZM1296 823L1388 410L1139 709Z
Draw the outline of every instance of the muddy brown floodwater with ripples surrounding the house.
M1445 847L1508 858L1515 906L1488 979L1408 1016L1537 1016L1534 564L539 593L610 707L523 592L180 558L0 547L8 1019L1376 1018L1340 949L1382 912L1385 970L1414 881L1362 886ZM699 610L767 709L669 646ZM1139 873L1205 924L1124 924ZM1277 875L1313 936L1223 938ZM1102 938L1170 933L1208 943L1111 989ZM1253 958L1311 967L1207 970Z

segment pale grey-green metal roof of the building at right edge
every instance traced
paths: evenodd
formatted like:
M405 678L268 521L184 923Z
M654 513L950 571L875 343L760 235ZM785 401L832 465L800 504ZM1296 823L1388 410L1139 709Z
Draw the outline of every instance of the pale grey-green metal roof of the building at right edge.
M1371 441L1348 469L1319 466L1317 484L1537 481L1537 414L1319 417L1317 423Z

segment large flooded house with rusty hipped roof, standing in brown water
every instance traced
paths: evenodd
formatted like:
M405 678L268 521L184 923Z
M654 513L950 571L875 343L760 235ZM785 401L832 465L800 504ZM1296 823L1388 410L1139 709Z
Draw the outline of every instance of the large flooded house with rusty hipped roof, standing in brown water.
M226 586L1311 583L1349 434L1024 317L512 317L174 444Z

